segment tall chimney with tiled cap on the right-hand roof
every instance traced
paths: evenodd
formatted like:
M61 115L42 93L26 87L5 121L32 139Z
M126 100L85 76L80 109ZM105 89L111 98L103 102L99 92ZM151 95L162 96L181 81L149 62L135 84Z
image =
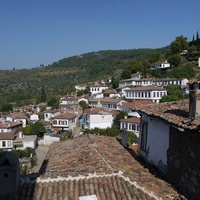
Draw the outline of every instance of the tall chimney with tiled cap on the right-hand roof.
M195 78L188 81L189 85L189 118L200 117L200 79Z

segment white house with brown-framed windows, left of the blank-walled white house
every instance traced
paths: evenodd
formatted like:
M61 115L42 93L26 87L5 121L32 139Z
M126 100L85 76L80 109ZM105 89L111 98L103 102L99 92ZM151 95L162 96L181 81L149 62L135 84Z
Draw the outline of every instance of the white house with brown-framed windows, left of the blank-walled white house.
M65 113L52 117L53 130L72 130L76 127L77 115L72 113Z

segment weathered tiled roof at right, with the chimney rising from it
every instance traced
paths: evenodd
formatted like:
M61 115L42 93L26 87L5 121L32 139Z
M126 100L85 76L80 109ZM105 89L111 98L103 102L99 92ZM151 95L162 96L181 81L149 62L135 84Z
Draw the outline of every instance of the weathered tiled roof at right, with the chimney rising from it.
M140 113L164 120L181 128L199 129L200 120L189 119L189 100L159 103L137 107Z

